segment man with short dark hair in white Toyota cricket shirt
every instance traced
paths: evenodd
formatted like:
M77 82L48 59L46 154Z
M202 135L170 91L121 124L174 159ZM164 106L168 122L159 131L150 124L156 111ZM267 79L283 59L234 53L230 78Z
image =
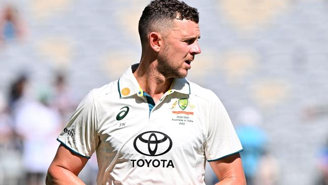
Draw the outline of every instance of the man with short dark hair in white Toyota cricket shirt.
M205 160L220 184L245 184L241 144L212 91L185 79L200 54L198 12L155 0L139 21L142 56L119 80L93 89L66 128L48 184L77 177L94 151L98 184L205 184Z

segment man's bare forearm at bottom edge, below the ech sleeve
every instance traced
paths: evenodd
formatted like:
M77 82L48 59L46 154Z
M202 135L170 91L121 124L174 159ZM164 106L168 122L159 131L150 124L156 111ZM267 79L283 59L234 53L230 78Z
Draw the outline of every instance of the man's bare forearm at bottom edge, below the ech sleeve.
M85 184L73 172L60 166L50 166L45 179L47 185L50 184Z

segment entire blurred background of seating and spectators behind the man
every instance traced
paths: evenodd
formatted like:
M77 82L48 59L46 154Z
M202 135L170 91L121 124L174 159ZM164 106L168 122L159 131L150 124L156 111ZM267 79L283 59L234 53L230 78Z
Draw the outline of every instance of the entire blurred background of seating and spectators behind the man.
M328 1L185 2L202 49L188 79L226 106L248 184L328 184ZM0 0L0 184L44 184L83 96L139 62L148 3ZM94 154L80 177L96 174Z

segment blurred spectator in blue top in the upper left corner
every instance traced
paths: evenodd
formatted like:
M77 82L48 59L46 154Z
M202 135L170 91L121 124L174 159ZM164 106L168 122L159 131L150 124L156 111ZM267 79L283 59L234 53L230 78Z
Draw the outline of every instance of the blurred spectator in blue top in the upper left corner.
M0 45L25 35L24 24L16 8L7 5L0 9Z

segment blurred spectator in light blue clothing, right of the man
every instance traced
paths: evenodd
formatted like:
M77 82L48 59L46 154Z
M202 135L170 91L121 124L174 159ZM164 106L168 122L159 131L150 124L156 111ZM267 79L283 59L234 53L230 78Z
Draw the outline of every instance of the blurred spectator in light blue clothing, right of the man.
M254 108L243 109L239 119L241 125L236 128L236 132L244 149L240 155L247 184L252 185L255 184L254 178L265 149L266 135L259 127L261 116Z

